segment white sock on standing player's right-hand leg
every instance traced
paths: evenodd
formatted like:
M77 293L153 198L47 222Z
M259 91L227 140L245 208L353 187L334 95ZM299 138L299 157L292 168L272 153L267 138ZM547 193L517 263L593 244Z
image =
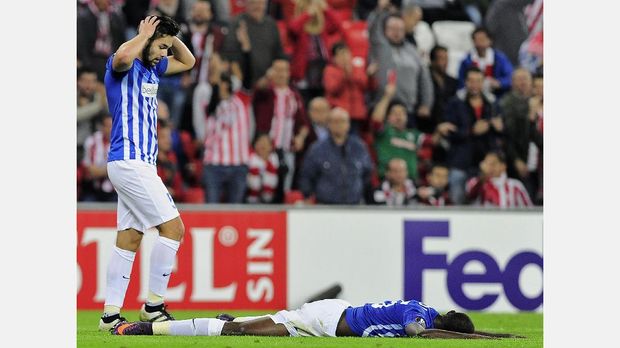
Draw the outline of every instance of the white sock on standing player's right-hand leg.
M149 296L147 304L157 306L164 302L170 273L181 242L159 236L151 251L151 271L149 275Z

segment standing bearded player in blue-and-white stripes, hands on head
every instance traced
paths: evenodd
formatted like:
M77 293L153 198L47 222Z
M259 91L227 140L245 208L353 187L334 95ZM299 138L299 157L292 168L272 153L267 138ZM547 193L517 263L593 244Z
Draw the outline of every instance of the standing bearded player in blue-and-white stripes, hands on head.
M105 87L113 115L108 176L118 193L116 246L107 269L100 330L125 321L120 316L129 276L144 232L159 231L151 256L149 294L141 321L173 320L164 295L184 226L157 176L157 87L159 78L186 71L195 58L179 40L179 25L163 16L140 22L138 34L107 61ZM168 57L168 50L172 56Z

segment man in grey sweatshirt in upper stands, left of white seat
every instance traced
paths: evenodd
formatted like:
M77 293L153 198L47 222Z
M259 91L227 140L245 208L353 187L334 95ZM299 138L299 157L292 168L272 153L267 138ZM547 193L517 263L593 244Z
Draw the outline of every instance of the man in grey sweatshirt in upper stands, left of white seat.
M433 83L428 67L416 47L405 40L405 22L390 12L389 1L379 1L368 18L368 31L371 61L378 64L378 97L386 84L395 79L396 97L407 106L407 127L413 128L416 117L430 117L433 106Z

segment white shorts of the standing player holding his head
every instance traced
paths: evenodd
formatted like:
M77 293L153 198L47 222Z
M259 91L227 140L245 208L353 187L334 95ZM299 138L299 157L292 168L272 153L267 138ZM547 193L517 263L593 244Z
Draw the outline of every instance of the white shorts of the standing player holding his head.
M156 166L140 160L112 161L108 162L108 177L118 193L119 231L145 232L179 216Z

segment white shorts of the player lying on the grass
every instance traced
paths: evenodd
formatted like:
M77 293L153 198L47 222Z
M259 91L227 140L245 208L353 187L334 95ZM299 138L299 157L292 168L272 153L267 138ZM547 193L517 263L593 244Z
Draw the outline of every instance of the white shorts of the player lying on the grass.
M279 311L270 317L274 323L284 324L294 337L336 337L338 321L348 307L351 304L344 300L320 300L306 303L293 311Z

